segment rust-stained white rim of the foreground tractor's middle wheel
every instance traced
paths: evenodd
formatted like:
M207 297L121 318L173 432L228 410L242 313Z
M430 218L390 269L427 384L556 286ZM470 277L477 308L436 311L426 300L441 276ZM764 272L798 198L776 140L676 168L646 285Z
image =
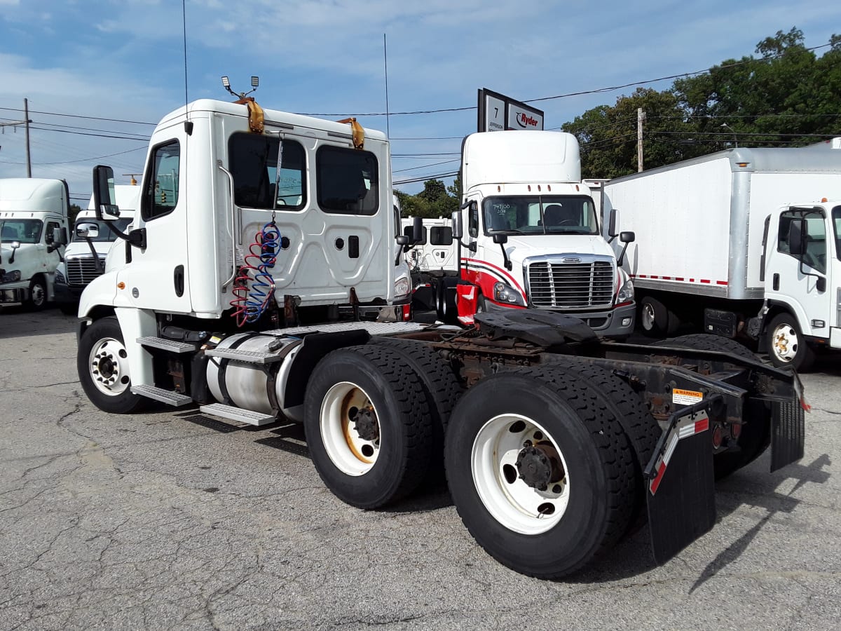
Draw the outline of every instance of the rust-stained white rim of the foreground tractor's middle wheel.
M376 416L368 393L350 381L333 385L321 401L321 440L327 456L346 475L365 475L377 462L380 438L363 438L353 422L357 411L366 409ZM377 422L377 433L379 429Z

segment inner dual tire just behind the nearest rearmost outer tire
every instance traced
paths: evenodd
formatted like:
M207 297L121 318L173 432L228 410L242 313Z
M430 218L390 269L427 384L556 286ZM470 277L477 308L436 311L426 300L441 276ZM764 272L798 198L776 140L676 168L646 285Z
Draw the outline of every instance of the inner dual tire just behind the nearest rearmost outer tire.
M636 530L646 520L646 480L643 470L653 456L660 434L663 433L657 420L651 416L642 398L625 381L606 369L588 363L576 362L572 358L560 358L563 370L570 375L583 378L586 387L607 406L620 422L622 430L631 443L634 453L634 506L628 531ZM554 367L554 364L553 364Z

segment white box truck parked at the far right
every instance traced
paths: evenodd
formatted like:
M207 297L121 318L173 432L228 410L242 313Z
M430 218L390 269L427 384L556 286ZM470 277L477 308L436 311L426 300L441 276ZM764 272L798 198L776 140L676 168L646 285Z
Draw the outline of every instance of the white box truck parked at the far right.
M797 369L816 348L841 348L832 199L841 150L827 144L730 149L606 183L605 212L637 236L624 264L643 331L665 336L692 321L745 333Z

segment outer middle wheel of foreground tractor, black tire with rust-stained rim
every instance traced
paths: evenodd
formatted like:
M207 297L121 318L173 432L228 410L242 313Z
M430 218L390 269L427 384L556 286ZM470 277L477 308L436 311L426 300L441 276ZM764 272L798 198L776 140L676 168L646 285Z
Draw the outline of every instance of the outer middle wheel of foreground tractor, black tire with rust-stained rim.
M373 409L376 441L362 437L354 420L359 411L354 404L364 403L363 410ZM421 379L394 348L342 348L321 359L309 378L304 395L309 453L327 488L352 506L377 508L415 490L429 469L431 427ZM369 453L366 441L376 444Z

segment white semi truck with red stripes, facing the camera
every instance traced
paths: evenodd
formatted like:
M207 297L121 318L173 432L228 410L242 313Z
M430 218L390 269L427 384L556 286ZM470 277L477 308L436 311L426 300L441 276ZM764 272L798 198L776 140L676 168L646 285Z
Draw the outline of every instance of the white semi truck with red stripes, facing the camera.
M603 337L631 333L633 285L600 234L574 135L468 135L462 178L460 321L530 308L574 315Z

